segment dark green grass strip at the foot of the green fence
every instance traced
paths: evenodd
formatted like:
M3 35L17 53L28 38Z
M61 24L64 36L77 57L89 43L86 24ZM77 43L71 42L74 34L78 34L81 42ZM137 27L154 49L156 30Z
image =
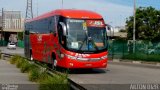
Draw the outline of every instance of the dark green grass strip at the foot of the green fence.
M147 61L147 62L160 62L160 55L147 55L143 53L124 55L122 59Z

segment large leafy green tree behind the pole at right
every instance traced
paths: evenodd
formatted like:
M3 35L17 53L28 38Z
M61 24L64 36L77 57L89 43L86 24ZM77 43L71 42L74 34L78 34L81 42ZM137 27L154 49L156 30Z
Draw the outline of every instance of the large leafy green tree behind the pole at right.
M127 37L133 37L133 16L126 21ZM160 11L153 7L139 7L136 9L136 40L160 40Z

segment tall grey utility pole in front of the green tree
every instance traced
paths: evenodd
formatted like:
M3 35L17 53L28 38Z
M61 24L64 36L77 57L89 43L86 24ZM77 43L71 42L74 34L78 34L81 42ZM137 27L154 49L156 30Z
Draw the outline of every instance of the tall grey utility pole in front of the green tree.
M136 43L136 0L134 0L134 23L133 23L133 53L135 53L135 43Z

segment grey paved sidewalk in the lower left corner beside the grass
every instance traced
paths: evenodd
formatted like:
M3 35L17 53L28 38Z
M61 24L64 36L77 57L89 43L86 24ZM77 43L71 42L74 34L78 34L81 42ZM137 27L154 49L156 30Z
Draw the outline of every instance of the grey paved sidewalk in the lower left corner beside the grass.
M3 88L10 84L18 87L14 90L38 90L38 84L29 81L27 73L21 73L7 60L0 60L0 84L0 90L6 90Z

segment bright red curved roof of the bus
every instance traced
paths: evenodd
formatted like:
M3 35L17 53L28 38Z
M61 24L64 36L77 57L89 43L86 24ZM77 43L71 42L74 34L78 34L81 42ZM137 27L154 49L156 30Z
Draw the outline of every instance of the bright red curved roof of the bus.
M32 20L28 20L27 22L51 17L54 15L60 15L67 18L75 18L75 19L102 19L102 16L98 13L88 10L76 10L76 9L57 9L46 14L40 15Z

